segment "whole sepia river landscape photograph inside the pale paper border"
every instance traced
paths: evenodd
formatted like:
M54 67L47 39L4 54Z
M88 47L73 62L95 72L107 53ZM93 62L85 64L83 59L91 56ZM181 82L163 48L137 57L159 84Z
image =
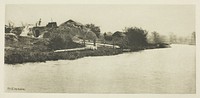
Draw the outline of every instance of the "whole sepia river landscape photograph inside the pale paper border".
M6 4L4 92L196 94L192 4Z

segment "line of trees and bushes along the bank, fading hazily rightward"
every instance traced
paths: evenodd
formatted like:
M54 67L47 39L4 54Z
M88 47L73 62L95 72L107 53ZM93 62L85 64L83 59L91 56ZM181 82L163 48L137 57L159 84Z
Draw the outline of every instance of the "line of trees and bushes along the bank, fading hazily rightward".
M19 36L22 30L21 28L18 29L13 29L12 32ZM113 48L115 45L118 45L122 49L133 50L136 48L145 49L150 45L156 46L163 43L196 43L195 32L192 32L190 39L187 40L186 38L177 38L174 33L171 33L169 36L164 36L156 31L148 32L139 27L126 27L122 31L116 31L114 33L105 32L102 34L100 27L95 24L82 25L73 20L68 20L58 28L46 29L43 38L49 39L50 48L64 49L76 47L77 44L72 40L74 36L83 40L82 46L86 45L86 40L92 40L94 46L96 46L96 41L99 41L100 43L112 44Z

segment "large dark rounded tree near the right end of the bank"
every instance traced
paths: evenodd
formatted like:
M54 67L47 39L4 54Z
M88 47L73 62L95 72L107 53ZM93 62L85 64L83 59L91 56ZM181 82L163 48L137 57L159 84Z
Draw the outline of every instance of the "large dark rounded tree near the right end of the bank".
M125 34L128 41L128 46L145 46L147 45L147 31L143 30L142 28L126 28Z

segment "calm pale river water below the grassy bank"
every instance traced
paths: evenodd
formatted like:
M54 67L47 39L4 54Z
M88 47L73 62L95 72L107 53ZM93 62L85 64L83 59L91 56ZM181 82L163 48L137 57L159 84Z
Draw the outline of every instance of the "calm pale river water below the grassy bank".
M115 56L5 65L5 90L30 93L195 93L195 77L195 46L172 45L172 48Z

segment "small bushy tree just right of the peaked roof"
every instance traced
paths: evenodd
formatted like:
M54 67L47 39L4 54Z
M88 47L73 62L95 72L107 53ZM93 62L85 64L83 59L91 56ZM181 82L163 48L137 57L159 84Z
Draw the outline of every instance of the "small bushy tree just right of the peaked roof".
M101 30L99 26L95 26L94 24L86 24L85 27L94 32L98 38L100 37Z

